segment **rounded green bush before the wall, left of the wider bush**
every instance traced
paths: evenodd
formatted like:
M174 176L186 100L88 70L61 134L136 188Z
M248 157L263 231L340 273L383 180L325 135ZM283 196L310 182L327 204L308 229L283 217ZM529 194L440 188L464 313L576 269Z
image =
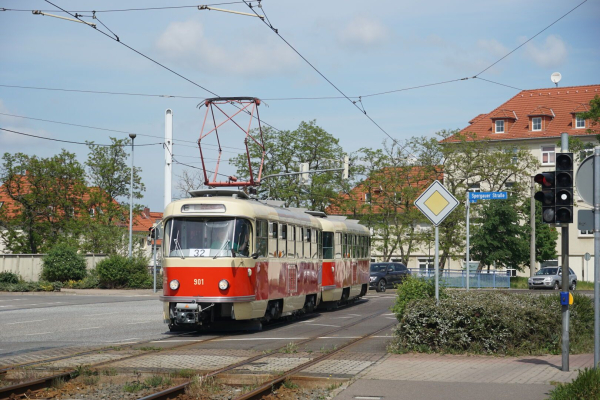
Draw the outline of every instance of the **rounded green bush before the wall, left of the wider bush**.
M42 279L66 282L83 279L87 274L85 257L66 244L54 246L42 259Z

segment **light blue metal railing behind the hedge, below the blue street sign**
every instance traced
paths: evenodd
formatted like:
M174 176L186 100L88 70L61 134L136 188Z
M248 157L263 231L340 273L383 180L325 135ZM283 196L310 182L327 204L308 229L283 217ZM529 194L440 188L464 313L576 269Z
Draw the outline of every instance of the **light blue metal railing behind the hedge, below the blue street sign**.
M410 268L413 276L423 276L433 278L435 269L433 268ZM440 285L447 287L467 287L467 271L460 269L440 270ZM474 289L481 288L510 288L510 271L482 270L471 271L469 275L469 287Z

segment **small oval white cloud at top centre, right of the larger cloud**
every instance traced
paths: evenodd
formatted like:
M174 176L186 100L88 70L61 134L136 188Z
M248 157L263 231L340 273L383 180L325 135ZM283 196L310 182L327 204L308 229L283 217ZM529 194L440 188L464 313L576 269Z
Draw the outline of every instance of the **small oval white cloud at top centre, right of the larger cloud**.
M380 46L390 37L389 29L368 17L355 17L338 34L338 41L351 48L369 49Z

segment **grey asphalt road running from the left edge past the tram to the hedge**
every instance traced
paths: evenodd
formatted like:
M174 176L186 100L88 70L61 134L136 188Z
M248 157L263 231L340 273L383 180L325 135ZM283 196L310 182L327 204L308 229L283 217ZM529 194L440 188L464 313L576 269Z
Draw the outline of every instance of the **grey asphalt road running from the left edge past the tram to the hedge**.
M332 312L316 313L300 321L266 325L262 331L228 330L185 334L182 337L170 333L163 323L162 303L155 295L0 294L0 361L53 349L81 351L145 341L149 341L150 346L168 347L169 343L222 334L235 337L215 342L218 348L273 349L274 346L285 345L291 338L313 337L375 312L383 313L377 318L376 325L385 326L395 321L388 311L394 298L393 292L379 294L370 291L356 304ZM356 327L333 337L323 337L311 350L339 345L346 337L366 333L363 330L364 327ZM372 350L385 353L389 335L389 332L382 333L376 340L370 341Z

